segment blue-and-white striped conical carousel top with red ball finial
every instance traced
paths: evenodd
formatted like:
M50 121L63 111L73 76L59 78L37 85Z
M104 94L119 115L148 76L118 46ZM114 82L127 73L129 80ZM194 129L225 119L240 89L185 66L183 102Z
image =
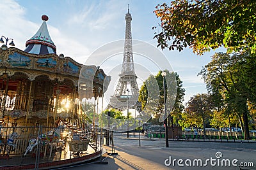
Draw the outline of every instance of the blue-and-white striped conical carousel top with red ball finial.
M36 34L26 42L26 49L24 52L42 55L56 53L56 46L47 29L46 21L48 20L48 17L43 15L42 20L43 23Z

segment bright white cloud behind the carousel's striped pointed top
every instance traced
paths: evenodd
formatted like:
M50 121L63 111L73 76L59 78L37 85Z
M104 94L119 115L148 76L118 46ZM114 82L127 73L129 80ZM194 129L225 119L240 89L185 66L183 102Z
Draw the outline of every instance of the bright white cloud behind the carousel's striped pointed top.
M24 17L26 15L26 8L20 6L15 1L0 1L0 6L1 35L13 38L15 47L24 50L26 48L26 41L38 31L42 22L41 24L36 24L26 20ZM66 57L72 57L77 62L83 64L86 57L90 54L90 50L83 43L68 37L60 29L48 23L47 27L52 41L57 46L57 54L63 53Z

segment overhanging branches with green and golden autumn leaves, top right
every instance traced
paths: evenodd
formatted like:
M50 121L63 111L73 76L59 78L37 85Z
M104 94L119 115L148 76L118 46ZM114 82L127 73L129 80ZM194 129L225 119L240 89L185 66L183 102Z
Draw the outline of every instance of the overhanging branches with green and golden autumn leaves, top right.
M154 38L162 49L190 46L201 55L224 46L228 52L256 52L254 0L174 0L156 8L162 30Z

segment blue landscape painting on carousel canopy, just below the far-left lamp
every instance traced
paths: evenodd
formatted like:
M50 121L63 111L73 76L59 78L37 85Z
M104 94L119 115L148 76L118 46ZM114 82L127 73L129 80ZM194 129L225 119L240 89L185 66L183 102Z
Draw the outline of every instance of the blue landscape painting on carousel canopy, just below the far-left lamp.
M31 68L31 59L25 55L14 52L8 56L7 60L10 67L25 67Z

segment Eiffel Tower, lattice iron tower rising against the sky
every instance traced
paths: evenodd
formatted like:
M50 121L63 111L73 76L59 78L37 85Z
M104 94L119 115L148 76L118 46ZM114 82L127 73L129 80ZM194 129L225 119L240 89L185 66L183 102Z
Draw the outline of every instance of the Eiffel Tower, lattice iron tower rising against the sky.
M137 76L134 71L133 54L132 54L132 32L131 20L132 16L129 13L125 15L125 42L124 42L124 58L122 64L122 71L119 74L118 84L115 93L110 97L108 108L116 108L118 110L126 110L134 108L141 111L141 103L138 101L139 88L136 81Z

